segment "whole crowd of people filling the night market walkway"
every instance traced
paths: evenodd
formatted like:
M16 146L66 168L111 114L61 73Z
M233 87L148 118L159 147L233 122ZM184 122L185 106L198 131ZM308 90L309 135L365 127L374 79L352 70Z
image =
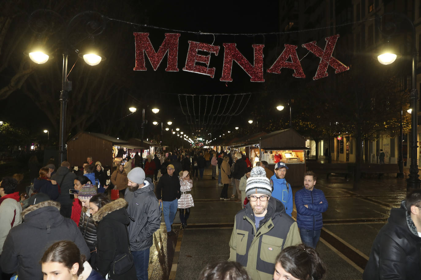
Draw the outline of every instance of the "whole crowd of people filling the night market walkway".
M83 171L67 161L57 170L48 163L23 194L17 191L19 176L3 178L0 280L13 273L23 280L50 279L57 273L68 280L148 279L149 251L161 211L168 236L175 234L177 210L181 228L187 228L195 206L190 192L195 181L203 180L205 168L211 168L211 180L223 186L220 199L241 202L241 207L227 244L229 259L208 264L199 279L316 280L325 274L315 248L328 201L315 188L317 177L311 171L295 193L294 220L284 162L272 171L265 161L252 167L242 152L213 149L178 150L127 162L113 172L104 170L101 162L94 164L92 157L83 163ZM364 279L398 272L420 277L420 204L421 191L416 191L402 201L401 209L392 210L373 245ZM397 236L407 236L406 241Z

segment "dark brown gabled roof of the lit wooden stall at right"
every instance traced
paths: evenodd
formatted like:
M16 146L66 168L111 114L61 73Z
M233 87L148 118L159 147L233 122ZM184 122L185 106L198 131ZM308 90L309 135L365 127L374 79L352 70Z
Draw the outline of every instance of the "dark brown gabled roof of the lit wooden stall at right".
M306 150L306 139L295 129L278 130L261 136L260 148L264 150Z

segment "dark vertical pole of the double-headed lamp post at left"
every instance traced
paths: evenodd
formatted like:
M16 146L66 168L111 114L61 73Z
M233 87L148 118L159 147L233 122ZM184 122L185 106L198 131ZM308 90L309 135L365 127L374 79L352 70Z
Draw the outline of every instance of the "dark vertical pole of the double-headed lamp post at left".
M63 54L63 72L61 76L61 92L60 92L60 136L59 136L59 163L64 161L65 148L65 134L66 134L66 110L68 92L66 90L67 80L67 57L68 54Z

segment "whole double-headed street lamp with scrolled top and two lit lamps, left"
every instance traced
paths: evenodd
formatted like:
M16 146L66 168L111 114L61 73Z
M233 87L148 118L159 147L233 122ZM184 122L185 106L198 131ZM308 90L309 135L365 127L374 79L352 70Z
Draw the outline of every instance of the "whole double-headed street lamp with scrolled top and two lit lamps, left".
M51 20L51 26L45 24L45 19ZM67 24L61 15L53 10L38 9L32 12L29 16L29 28L41 37L43 34L56 33L64 26L64 32L62 32L64 42L63 49L63 69L61 76L61 92L60 92L60 132L59 132L59 162L64 161L64 154L66 152L65 141L66 141L66 111L67 101L69 99L69 92L72 90L72 82L67 81L67 60L69 56L69 34L73 24L83 20L85 24L85 31L88 34L86 38L93 39L93 37L101 34L106 27L107 17L94 11L84 11L74 16ZM59 24L55 24L57 21ZM52 30L57 28L56 30ZM83 54L80 53L75 47L71 46L85 62L91 66L98 65L101 60L105 60L104 56L97 53ZM51 55L48 55L43 51L40 46L36 46L35 49L28 51L29 58L37 64L43 64L48 61Z

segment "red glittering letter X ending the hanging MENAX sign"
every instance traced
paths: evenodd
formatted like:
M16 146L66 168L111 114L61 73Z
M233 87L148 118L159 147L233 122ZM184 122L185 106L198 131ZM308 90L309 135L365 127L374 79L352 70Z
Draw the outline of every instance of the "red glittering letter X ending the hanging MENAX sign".
M339 60L332 56L333 49L335 48L336 41L339 38L339 34L325 38L326 46L325 50L322 50L320 47L317 47L316 41L302 44L310 52L317 55L320 58L319 67L317 68L316 76L313 77L313 80L318 80L328 76L328 66L335 68L335 73L341 73L346 70L349 70L349 67L341 63Z

